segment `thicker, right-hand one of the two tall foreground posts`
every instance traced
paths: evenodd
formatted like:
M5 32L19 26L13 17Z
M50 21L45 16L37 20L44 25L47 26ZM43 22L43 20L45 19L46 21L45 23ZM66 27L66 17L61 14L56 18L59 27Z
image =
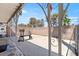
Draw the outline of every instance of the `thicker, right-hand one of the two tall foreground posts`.
M62 35L61 35L61 28L62 28L62 19L63 19L63 4L59 3L58 4L58 9L59 9L59 17L58 17L58 55L61 56L62 55Z

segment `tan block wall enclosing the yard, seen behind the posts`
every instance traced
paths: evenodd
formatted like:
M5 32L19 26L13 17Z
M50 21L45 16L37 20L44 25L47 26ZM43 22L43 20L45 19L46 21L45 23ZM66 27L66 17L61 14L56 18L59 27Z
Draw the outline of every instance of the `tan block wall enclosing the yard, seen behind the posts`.
M22 27L18 27L18 34L19 30ZM27 34L27 32L30 30L32 34L34 35L48 35L48 27L37 27L37 28L28 28L28 27L23 27L25 29L25 35ZM73 38L73 31L74 31L74 26L70 26L70 27L62 27L62 38L63 39L72 39ZM58 37L58 27L52 28L51 30L51 34L53 37Z

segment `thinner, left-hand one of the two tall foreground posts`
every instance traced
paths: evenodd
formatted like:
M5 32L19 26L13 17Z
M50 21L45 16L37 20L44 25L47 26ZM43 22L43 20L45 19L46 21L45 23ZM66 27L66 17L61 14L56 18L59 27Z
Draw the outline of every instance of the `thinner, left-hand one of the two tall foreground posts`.
M50 21L50 3L48 3L48 54L51 56L51 21Z

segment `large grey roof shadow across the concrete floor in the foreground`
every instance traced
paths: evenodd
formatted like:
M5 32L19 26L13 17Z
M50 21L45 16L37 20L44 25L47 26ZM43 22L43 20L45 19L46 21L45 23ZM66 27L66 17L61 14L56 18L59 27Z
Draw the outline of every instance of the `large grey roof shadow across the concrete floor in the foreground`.
M40 47L34 43L24 41L16 42L17 47L23 52L25 56L48 56L48 49ZM55 52L51 52L52 56L57 56Z

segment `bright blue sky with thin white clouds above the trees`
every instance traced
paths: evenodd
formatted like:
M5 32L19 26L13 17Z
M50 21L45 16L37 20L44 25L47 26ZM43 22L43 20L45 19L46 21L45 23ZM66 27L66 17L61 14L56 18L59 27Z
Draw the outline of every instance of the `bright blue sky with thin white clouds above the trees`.
M41 4L46 8L46 4ZM52 3L52 11L51 14L58 13L58 4ZM64 8L67 4L64 4ZM67 15L71 19L71 24L79 24L79 4L71 3L67 10ZM27 3L24 4L22 9L22 15L19 17L18 24L24 23L28 24L31 17L35 17L38 20L44 19L45 26L47 26L47 21L42 9L36 3Z

